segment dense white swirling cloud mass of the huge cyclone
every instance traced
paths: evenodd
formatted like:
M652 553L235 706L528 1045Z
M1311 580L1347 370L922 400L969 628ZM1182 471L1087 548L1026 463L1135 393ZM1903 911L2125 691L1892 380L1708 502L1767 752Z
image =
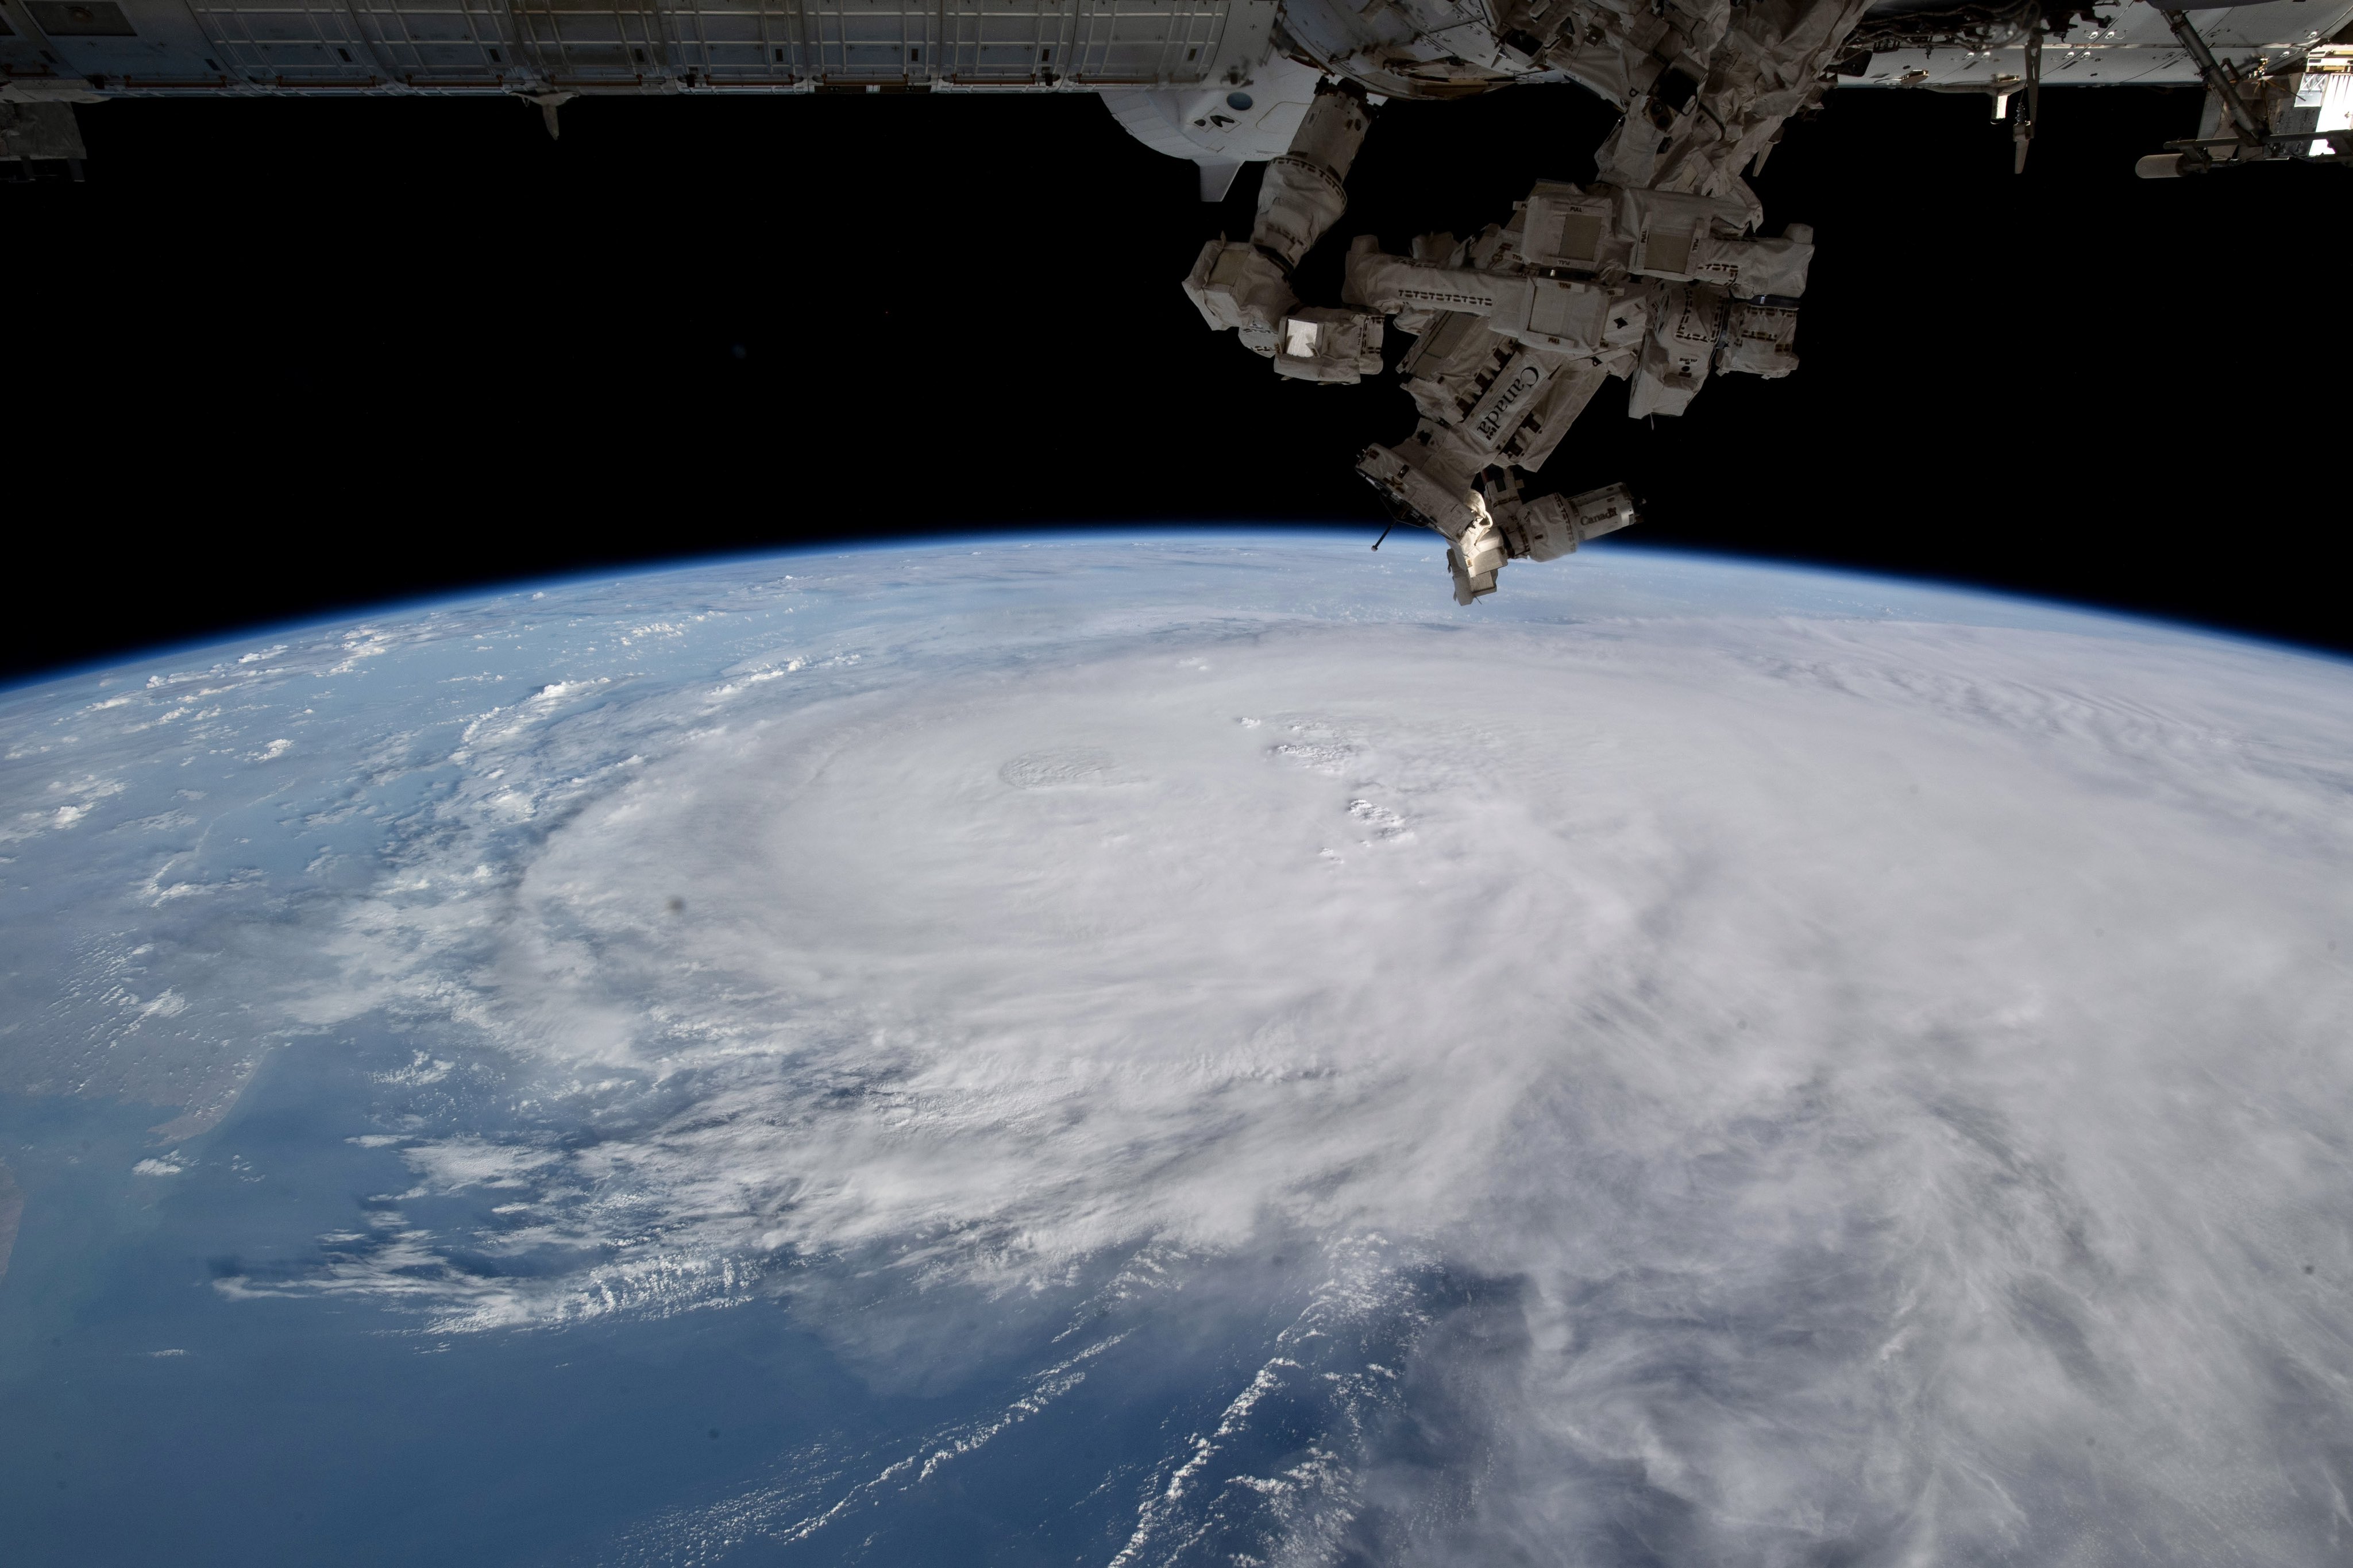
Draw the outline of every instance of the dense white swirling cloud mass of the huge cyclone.
M2299 679L2341 675L1360 628L739 717L567 809L494 931L365 917L442 990L435 945L487 938L468 1018L600 1126L402 1147L419 1192L619 1255L452 1281L440 1324L812 1288L779 1258L1024 1293L1379 1232L1525 1281L1471 1556L1600 1528L1579 1467L1642 1467L1708 1552L1932 1493L1972 1502L1918 1528L1993 1549L1988 1467L2071 1474L2094 1429L2139 1505L2261 1490L2261 1368L2341 1354L2301 1262L2353 1267L2353 1009L2311 940L2353 835ZM485 820L576 776L504 764Z

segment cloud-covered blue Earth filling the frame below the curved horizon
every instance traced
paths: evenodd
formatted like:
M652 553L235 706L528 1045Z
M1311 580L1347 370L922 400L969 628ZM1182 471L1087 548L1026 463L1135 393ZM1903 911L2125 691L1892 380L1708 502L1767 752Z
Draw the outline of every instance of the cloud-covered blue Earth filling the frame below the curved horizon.
M2353 665L1365 543L0 689L0 1537L2334 1561Z

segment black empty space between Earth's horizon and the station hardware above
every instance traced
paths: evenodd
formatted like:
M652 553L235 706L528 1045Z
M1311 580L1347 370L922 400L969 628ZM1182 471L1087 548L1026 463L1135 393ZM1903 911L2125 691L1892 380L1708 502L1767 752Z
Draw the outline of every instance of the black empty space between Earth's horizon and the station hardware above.
M1278 381L1176 289L1247 233L1092 96L113 101L0 186L0 672L699 552L1040 524L1381 527L1395 378ZM1805 367L1593 404L1539 489L1642 536L2353 649L2353 174L2137 181L2193 89L1838 92L1758 179ZM1574 87L1391 103L1334 240L1586 179ZM1395 348L1395 343L1393 343ZM1445 592L1442 581L1431 583ZM1508 578L1506 578L1508 592Z

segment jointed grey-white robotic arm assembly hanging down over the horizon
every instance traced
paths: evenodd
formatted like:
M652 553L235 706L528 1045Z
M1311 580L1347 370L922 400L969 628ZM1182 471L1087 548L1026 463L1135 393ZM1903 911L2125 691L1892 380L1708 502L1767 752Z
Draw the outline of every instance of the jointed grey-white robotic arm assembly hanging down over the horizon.
M1520 494L1605 381L1631 381L1635 418L1680 416L1711 374L1798 367L1814 235L1793 223L1760 237L1741 169L1819 101L1866 0L1593 0L1558 7L1558 26L1546 2L1504 2L1546 19L1541 35L1501 35L1520 71L1562 71L1626 108L1595 153L1600 179L1539 181L1508 223L1461 242L1424 235L1412 256L1360 235L1346 308L1304 308L1292 268L1346 212L1369 122L1355 85L1327 82L1268 167L1249 242L1205 244L1184 284L1214 329L1301 381L1379 374L1388 317L1417 339L1398 367L1414 435L1367 447L1358 473L1400 522L1447 538L1464 604L1494 592L1508 559L1553 559L1638 522L1621 484ZM1447 47L1449 71L1468 71L1459 38Z

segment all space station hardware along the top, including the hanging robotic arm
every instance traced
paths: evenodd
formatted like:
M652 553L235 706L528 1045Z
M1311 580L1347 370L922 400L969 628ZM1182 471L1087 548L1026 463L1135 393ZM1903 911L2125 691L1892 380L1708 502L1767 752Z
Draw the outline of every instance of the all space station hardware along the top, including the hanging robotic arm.
M1508 559L1635 522L1624 487L1525 498L1602 381L1635 418L1708 376L1798 367L1814 235L1765 235L1744 174L1838 85L1974 92L2024 169L2042 85L2202 82L2198 136L2151 179L2353 162L2353 0L0 0L0 169L80 172L75 103L115 96L511 94L560 129L600 92L1096 92L1221 200L1266 162L1247 240L1186 294L1278 376L1353 383L1388 331L1421 414L1358 473L1447 538L1459 602ZM1624 118L1588 186L1508 223L1355 237L1339 306L1292 270L1341 219L1386 99L1577 82Z

